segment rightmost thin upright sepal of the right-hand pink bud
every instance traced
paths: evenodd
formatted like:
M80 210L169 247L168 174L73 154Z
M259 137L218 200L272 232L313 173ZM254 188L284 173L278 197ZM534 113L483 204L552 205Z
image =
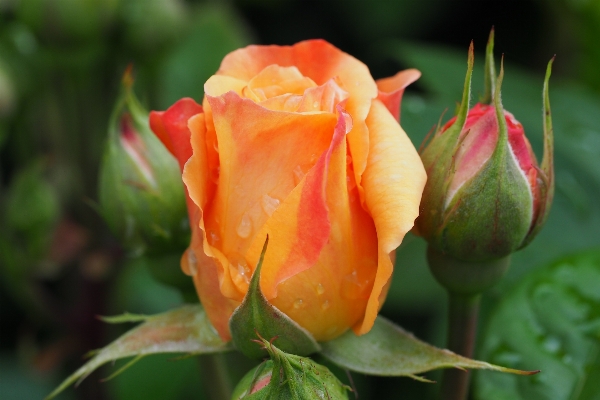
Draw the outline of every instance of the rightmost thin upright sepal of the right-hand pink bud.
M554 199L554 130L552 128L552 111L550 110L550 94L548 93L548 85L550 82L550 75L552 74L552 64L554 63L554 57L548 62L546 67L546 77L544 78L544 89L542 90L542 99L544 102L544 155L542 158L542 164L538 170L539 178L538 184L540 188L540 204L538 215L532 224L531 231L527 234L527 237L523 241L521 247L527 246L533 238L538 234L540 229L544 226L548 214L550 213L550 206Z

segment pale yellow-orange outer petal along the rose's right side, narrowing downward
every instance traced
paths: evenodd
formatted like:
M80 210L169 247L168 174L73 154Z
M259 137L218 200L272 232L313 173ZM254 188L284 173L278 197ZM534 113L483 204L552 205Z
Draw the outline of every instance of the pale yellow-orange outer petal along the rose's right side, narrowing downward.
M367 125L371 142L363 185L366 205L377 230L379 265L364 320L354 326L359 335L371 329L383 305L393 270L390 253L400 245L419 215L427 180L413 144L381 101L373 101Z

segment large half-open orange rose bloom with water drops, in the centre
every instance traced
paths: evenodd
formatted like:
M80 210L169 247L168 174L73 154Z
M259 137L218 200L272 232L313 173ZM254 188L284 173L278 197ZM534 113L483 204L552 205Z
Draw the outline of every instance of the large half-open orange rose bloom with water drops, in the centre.
M376 83L323 40L249 46L225 57L202 107L151 113L189 193L182 268L223 339L267 234L260 284L273 305L319 341L371 329L426 180L397 121L419 75Z

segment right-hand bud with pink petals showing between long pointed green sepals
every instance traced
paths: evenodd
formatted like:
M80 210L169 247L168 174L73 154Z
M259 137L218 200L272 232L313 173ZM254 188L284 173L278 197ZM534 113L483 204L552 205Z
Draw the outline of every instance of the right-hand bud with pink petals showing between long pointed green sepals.
M528 244L544 223L553 193L552 128L544 83L544 160L541 168L523 126L502 108L503 70L493 82L488 45L487 99L467 113L473 47L461 108L438 127L421 154L428 173L418 233L430 249L461 261L497 260Z

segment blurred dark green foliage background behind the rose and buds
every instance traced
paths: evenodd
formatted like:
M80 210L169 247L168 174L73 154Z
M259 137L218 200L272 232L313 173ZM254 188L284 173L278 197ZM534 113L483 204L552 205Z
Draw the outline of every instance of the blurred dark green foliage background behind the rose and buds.
M204 82L236 48L324 38L375 78L423 72L402 105L401 123L418 147L460 100L471 40L474 99L482 92L492 25L497 59L505 56L504 106L538 158L545 65L557 54L556 197L542 233L486 294L477 353L543 372L477 373L472 397L600 399L597 0L0 0L0 396L42 398L83 354L126 329L97 315L156 313L195 298L177 278L179 251L161 259L128 253L98 212L100 159L128 64L141 103L164 110L184 96L201 101ZM421 239L405 239L382 313L443 346L445 295L424 250ZM210 398L210 364L172 358L145 358L99 383L114 371L108 366L60 398ZM228 359L234 380L251 365ZM434 399L439 387L353 379L361 399Z

